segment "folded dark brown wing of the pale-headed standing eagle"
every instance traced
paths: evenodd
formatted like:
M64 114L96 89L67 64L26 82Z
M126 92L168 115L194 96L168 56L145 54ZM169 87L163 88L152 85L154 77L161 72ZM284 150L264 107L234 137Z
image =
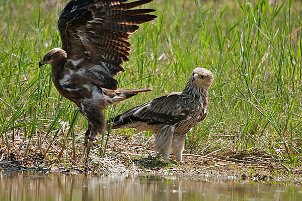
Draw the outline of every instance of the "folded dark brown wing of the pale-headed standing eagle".
M123 123L146 122L147 124L175 124L189 118L197 105L192 97L181 92L169 93L117 116Z

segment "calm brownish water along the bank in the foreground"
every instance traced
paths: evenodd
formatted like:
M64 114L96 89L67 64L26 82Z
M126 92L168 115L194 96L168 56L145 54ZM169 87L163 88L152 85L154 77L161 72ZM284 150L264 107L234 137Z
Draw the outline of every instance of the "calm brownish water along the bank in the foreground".
M302 200L302 189L217 177L3 171L0 200Z

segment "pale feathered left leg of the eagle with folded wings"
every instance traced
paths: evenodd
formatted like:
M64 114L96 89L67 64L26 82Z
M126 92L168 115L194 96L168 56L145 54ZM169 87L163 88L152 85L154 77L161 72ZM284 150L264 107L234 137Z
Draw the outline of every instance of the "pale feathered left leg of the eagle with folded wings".
M154 149L161 152L166 163L170 163L169 155L170 148L172 145L172 137L173 137L174 127L171 125L163 126L154 141Z

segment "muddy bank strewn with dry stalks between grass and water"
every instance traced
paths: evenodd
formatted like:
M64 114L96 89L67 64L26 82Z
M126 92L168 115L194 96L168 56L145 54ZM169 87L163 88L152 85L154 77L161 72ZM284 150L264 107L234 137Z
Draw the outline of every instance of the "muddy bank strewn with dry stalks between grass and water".
M0 150L0 168L5 170L36 170L42 172L58 171L64 173L149 173L149 174L192 174L221 175L240 177L242 179L273 180L280 177L297 178L302 175L301 166L292 167L281 158L261 154L257 149L236 152L218 150L201 153L202 150L186 148L182 162L175 162L170 156L171 164L163 162L162 157L152 148L154 137L111 134L105 149L95 148L90 159L85 163L83 140L65 143L57 141L51 146L39 146L38 139L26 153L26 141L15 138L10 147L2 141ZM23 144L22 144L23 142ZM50 144L46 141L44 144ZM101 137L99 137L101 145ZM75 151L74 151L75 150Z

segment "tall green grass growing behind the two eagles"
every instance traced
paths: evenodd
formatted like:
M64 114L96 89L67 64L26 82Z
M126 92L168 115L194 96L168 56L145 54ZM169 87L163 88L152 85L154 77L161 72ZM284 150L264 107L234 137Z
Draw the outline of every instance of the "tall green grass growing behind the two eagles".
M60 46L56 22L67 1L56 2L0 1L0 142L11 149L16 135L22 135L25 155L33 146L49 148L56 138L64 145L72 142L69 149L77 151L74 144L83 140L74 130L87 127L77 108L56 91L50 67L37 63ZM117 80L119 87L154 91L109 107L106 115L182 91L192 70L204 67L214 74L209 114L189 133L186 151L227 147L220 153L248 150L297 166L302 153L302 4L163 0L147 7L156 9L158 18L131 36L127 72ZM50 145L46 138L52 139Z

